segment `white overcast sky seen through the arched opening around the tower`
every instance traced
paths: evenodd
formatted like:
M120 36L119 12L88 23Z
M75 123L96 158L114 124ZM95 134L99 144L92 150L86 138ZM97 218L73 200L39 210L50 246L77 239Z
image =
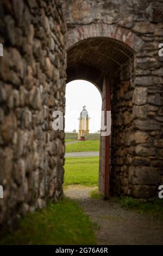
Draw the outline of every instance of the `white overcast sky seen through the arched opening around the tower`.
M85 80L75 80L66 85L65 132L79 128L79 115L86 106L90 119L90 133L101 127L102 98L97 87Z

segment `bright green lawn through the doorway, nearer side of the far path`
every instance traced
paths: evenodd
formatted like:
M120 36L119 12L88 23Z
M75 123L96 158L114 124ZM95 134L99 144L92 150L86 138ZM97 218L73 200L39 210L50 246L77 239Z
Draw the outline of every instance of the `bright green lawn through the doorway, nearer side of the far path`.
M65 162L64 186L97 186L99 157L70 157Z

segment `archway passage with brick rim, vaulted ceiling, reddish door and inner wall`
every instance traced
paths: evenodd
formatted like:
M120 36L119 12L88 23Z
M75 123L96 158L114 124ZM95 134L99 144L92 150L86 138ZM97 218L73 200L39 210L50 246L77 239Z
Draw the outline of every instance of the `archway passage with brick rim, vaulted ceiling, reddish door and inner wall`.
M101 90L102 110L112 111L111 141L101 136L99 190L105 198L110 193L133 194L127 135L133 129L134 55L142 45L135 34L114 25L86 25L67 32L67 81L92 81Z

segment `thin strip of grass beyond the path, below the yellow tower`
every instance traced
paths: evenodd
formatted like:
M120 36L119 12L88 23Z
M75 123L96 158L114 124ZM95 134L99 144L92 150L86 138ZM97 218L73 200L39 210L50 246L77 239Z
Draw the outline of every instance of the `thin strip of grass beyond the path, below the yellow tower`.
M99 151L99 140L83 140L66 145L66 152Z

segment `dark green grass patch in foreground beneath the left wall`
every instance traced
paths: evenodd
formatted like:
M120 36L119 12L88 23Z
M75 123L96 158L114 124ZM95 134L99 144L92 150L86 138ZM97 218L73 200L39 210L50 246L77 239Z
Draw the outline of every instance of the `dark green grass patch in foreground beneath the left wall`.
M96 245L93 226L77 202L64 199L29 213L0 245Z

